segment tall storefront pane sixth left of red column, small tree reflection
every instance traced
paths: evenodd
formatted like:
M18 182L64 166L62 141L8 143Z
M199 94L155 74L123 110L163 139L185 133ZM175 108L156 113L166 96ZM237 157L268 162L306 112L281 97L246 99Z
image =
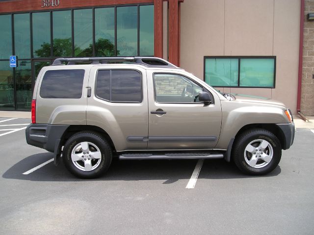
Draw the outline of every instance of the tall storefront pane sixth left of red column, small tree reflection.
M51 57L50 12L32 13L32 24L33 57Z

